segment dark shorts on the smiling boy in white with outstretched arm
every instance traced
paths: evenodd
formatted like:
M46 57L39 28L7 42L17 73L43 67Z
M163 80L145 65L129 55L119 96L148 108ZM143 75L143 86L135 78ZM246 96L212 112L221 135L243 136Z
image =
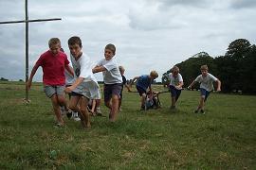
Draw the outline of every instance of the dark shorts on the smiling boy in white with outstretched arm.
M112 95L118 95L120 98L122 83L104 84L104 101L110 101Z

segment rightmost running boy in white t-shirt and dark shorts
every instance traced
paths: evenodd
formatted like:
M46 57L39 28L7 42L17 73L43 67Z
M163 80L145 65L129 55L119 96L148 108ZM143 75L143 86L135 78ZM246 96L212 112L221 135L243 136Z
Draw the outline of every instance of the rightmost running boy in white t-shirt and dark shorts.
M210 92L213 91L214 87L213 87L213 82L217 82L217 92L221 91L221 81L216 78L215 76L210 75L210 73L208 73L208 66L207 65L202 65L201 66L201 73L202 75L197 76L193 81L192 84L188 87L188 89L191 89L192 86L195 84L195 82L200 83L200 101L199 101L199 105L197 107L196 110L194 110L194 113L198 113L199 111L202 114L205 114L205 104L207 101L207 98L210 95Z

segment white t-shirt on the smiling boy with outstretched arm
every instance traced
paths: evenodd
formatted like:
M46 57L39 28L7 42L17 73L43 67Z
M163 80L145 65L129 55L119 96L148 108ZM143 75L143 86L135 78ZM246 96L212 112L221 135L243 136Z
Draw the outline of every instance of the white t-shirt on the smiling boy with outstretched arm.
M101 59L98 66L103 66L106 71L103 71L103 80L105 84L122 83L122 78L119 72L119 64L115 58L110 60Z

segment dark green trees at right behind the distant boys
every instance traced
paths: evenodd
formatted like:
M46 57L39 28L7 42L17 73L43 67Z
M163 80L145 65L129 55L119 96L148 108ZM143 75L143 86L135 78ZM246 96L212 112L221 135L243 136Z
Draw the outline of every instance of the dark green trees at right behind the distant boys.
M229 43L224 56L210 57L206 52L200 52L186 59L176 66L183 76L184 87L188 87L192 80L201 74L200 66L207 64L209 73L218 77L222 82L224 93L256 94L256 45L246 39L237 39ZM168 70L162 76L162 83L168 84ZM198 88L195 87L195 88Z

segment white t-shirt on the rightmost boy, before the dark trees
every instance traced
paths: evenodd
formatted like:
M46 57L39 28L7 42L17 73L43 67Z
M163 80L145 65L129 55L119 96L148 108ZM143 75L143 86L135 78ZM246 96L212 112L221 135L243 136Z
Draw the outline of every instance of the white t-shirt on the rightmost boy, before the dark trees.
M210 75L210 73L208 73L207 76L197 76L194 81L200 83L200 88L203 88L210 92L213 90L213 82L216 80L217 78L215 76L212 76Z

